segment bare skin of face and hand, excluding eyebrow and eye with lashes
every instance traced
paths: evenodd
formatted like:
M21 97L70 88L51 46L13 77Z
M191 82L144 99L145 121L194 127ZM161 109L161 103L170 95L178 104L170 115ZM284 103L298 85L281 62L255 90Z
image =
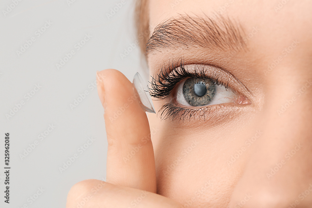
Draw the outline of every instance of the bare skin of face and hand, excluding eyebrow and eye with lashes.
M247 51L229 55L229 51L196 47L167 48L148 54L150 75L159 73L164 62L181 56L187 64L216 65L250 90L245 96L251 104L235 111L219 106L205 120L161 120L159 114L147 117L122 73L99 72L98 92L109 144L107 181L77 183L66 207L76 207L88 194L91 198L84 208L310 207L312 2L288 1L275 12L278 4L150 0L150 35L159 23L178 14L212 16L229 5L227 16L239 20L249 35ZM279 63L267 71L279 56ZM153 98L156 112L171 100ZM112 122L110 118L125 104L124 112ZM124 157L137 147L125 162ZM94 193L92 188L99 184L102 187Z

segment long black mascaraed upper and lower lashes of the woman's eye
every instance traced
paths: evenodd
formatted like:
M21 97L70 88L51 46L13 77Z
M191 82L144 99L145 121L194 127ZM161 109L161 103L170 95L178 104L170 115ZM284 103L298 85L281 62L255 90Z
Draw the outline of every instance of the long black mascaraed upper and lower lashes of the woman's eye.
M176 64L171 62L168 67L163 65L160 69L159 74L156 74L152 77L150 82L151 87L149 88L150 95L154 98L165 99L167 98L175 86L181 81L186 78L190 77L197 77L197 78L208 78L212 80L214 85L223 85L226 89L229 88L228 82L222 82L218 75L214 74L214 76L207 76L205 73L205 65L195 65L194 72L188 72L185 68L183 60L177 62ZM211 65L210 65L211 66ZM215 67L215 66L213 66ZM218 67L217 67L218 68ZM232 89L232 88L230 88ZM233 89L232 89L233 90ZM235 90L233 90L235 91ZM236 91L237 93L237 91ZM239 93L240 94L240 93ZM217 109L217 107L225 106L224 104L213 104L207 105L201 108L186 108L176 106L173 103L164 104L158 114L160 114L160 118L162 120L171 118L172 120L178 118L179 120L184 121L185 119L195 118L195 115L199 113L200 116L205 119L205 115L208 113L210 114L211 110ZM213 111L212 110L212 111Z

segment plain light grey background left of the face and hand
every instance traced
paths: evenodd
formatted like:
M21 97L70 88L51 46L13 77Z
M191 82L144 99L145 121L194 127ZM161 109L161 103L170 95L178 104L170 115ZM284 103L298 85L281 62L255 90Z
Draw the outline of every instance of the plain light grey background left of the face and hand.
M67 192L76 182L105 179L104 110L91 85L96 71L115 68L131 81L137 71L147 75L134 44L134 1L125 0L110 18L106 14L121 0L72 0L72 4L66 0L22 0L4 15L12 1L17 0L0 2L0 207L65 207ZM51 26L37 37L36 31L46 21L52 22ZM75 44L85 34L92 37L77 51ZM17 50L32 37L36 41L18 56ZM122 59L120 54L130 44L135 45L134 50ZM75 55L57 69L56 64L71 50ZM24 95L33 93L36 84L41 88L28 100ZM85 90L89 94L72 109L70 104ZM7 119L6 114L21 101L25 104ZM38 135L49 124L55 128L41 141ZM6 132L10 133L9 205L3 198ZM81 153L78 148L89 137L95 141ZM36 140L38 145L21 159ZM74 154L79 157L61 173L59 167ZM44 192L31 204L30 197L41 187Z

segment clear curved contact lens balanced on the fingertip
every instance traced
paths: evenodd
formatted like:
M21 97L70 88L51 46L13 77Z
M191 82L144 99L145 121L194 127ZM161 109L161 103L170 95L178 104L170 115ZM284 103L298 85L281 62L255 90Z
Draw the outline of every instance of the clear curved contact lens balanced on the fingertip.
M156 113L151 96L149 95L149 87L145 84L139 72L134 75L132 85L134 91L139 94L141 107L149 113Z

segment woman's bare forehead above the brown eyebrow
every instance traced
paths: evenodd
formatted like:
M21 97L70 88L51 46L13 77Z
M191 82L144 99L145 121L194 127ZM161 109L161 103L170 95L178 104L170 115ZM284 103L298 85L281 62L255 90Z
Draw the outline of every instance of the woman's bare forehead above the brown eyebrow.
M247 34L258 27L266 39L292 39L298 31L311 35L311 9L312 1L149 0L150 33L161 22L179 14L212 18L224 15L237 19Z

